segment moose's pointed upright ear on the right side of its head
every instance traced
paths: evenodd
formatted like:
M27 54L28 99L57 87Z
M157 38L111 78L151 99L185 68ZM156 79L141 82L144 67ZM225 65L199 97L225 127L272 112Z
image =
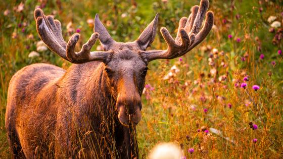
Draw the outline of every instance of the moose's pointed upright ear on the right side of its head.
M139 35L136 42L139 47L143 50L146 50L148 46L153 42L158 23L158 13L156 14L154 20L147 26L147 28Z

